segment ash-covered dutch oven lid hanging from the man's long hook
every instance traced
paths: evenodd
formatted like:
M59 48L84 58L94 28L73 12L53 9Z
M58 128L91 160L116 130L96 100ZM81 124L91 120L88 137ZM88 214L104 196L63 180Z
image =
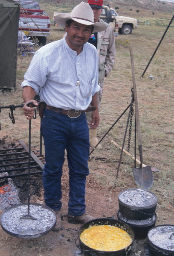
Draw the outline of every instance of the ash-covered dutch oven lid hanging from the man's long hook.
M31 203L30 213L35 219L21 218L27 215L27 212L27 203L6 209L0 218L2 229L18 238L36 238L51 231L56 224L54 211L45 205Z

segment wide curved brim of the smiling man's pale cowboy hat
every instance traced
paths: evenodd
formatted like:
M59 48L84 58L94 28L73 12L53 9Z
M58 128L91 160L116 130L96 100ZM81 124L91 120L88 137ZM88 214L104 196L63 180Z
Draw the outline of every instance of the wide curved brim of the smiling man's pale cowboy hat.
M83 25L94 26L93 33L94 32L101 32L101 31L105 31L106 30L106 25L103 24L100 21L92 23L90 21L86 21L86 20L83 20L83 19L80 19L80 18L79 19L78 18L72 18L68 13L58 14L57 16L55 16L54 21L60 27L64 27L65 28L66 21L68 21L69 19L73 20L73 21L76 21L76 22L78 22L80 24L83 24Z

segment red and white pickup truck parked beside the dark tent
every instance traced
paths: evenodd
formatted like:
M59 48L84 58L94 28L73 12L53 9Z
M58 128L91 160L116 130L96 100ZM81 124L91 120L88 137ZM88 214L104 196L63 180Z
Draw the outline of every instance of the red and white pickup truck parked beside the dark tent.
M40 9L38 1L15 0L20 3L19 30L27 37L37 38L39 44L46 44L50 36L51 21L49 16Z

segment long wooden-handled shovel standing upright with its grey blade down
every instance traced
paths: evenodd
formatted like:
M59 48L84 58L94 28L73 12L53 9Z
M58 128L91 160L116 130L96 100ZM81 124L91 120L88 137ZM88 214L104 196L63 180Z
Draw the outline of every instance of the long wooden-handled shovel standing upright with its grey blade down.
M143 167L143 150L142 150L142 142L141 142L141 131L140 131L140 118L138 111L138 100L137 100L137 89L135 83L135 75L134 75L134 59L133 59L133 47L129 47L130 55L131 55L131 68L132 68L132 79L133 79L133 88L134 88L134 102L135 102L135 120L136 120L136 128L137 128L137 137L138 137L138 147L140 152L140 167L133 168L133 174L135 182L138 187L141 189L151 189L153 185L153 174L151 171L151 166Z

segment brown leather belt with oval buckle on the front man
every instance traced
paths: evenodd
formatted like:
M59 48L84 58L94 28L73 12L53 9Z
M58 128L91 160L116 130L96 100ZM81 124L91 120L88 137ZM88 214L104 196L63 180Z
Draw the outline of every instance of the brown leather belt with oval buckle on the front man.
M56 107L49 106L49 105L46 105L46 109L52 110L54 112L57 112L57 113L60 113L60 114L63 114L63 115L68 115L69 118L78 118L84 112L89 112L89 111L96 110L95 107L88 107L85 110L76 110L76 109L65 110L65 109L60 109L60 108L56 108Z

